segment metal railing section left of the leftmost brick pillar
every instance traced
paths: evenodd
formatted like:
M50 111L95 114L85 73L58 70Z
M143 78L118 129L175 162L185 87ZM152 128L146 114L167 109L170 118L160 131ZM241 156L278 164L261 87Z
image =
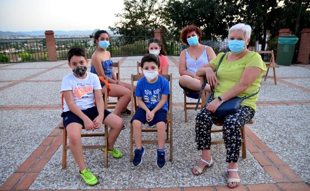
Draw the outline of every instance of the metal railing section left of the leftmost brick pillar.
M1 39L0 63L48 61L45 39Z

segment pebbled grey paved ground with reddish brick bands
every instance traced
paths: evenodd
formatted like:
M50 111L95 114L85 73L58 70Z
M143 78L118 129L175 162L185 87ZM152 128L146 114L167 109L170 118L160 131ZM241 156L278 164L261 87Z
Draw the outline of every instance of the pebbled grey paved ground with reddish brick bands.
M178 57L167 58L173 75L173 162L159 169L156 146L145 145L144 162L134 167L129 162L130 116L125 116L127 128L116 143L123 158L109 156L104 168L100 150L84 150L88 168L99 179L94 187L82 182L70 151L62 170L62 131L56 127L61 121L61 79L71 72L66 61L0 64L0 190L226 190L224 145L212 146L214 167L198 177L190 172L200 159L194 142L197 112L189 111L185 123ZM121 63L122 81L130 82L141 57L113 60ZM310 191L310 66L281 66L277 76L278 85L271 78L262 82L255 123L246 127L247 158L239 159L242 186L235 191ZM85 144L98 142L103 140L83 139ZM165 149L168 153L169 146Z

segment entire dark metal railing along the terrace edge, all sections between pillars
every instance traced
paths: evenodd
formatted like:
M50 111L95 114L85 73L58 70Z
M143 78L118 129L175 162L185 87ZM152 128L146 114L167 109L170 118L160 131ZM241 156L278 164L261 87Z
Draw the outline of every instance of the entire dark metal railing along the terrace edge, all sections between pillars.
M124 37L110 38L111 46L108 51L111 57L142 56L147 53L148 39L153 37ZM267 38L265 50L274 50L277 54L277 38ZM216 54L227 52L228 40L216 37L204 37L201 44L213 48ZM87 58L96 50L96 44L90 46L89 38L55 38L58 60L66 60L68 51L79 47L86 53ZM167 55L179 56L187 46L180 42L179 37L164 36L164 49ZM251 51L261 50L261 39L252 40L248 47ZM263 55L264 61L270 60L268 55ZM0 63L48 61L45 39L6 39L0 40Z

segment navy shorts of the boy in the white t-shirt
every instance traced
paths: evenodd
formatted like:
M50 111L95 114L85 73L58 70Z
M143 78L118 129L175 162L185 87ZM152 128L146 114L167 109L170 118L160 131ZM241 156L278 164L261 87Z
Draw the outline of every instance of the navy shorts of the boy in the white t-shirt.
M83 114L85 114L91 121L93 121L99 114L98 114L98 110L97 107L94 106L92 108L88 108L86 110L81 110L83 112ZM103 121L105 120L105 118L111 114L111 112L109 112L108 110L104 110L104 117L103 117ZM69 124L71 123L78 123L80 125L82 125L82 128L84 128L84 122L83 120L81 120L76 114L72 113L71 111L68 112L63 112L62 113L62 117L63 117L63 122L64 122L64 127L66 128Z

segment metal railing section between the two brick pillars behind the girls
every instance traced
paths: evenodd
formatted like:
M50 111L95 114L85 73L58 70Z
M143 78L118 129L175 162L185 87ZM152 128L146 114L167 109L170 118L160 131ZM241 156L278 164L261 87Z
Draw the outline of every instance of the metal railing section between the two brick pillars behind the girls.
M110 46L107 50L111 57L141 56L147 53L148 39L151 37L110 37ZM96 50L96 44L90 46L89 38L56 38L56 52L58 60L67 59L68 51L79 47L86 53L87 58Z

